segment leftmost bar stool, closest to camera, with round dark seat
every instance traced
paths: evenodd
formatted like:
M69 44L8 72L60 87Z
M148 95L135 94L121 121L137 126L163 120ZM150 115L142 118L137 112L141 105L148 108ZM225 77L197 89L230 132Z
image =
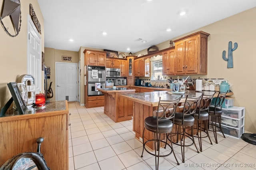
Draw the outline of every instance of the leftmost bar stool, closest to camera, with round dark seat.
M142 150L141 157L143 157L144 149L149 154L155 156L155 161L158 157L158 159L156 161L156 170L158 170L159 157L169 156L172 152L177 161L177 164L178 165L180 164L175 156L174 151L173 151L172 142L170 142L171 145L167 143L167 134L172 133L173 123L172 123L172 121L170 121L170 119L174 118L174 115L176 113L176 108L177 108L178 103L180 102L181 98L182 98L182 96L175 100L161 100L161 97L159 97L158 109L156 111L154 111L153 116L147 117L144 120L144 130L143 130L143 134L142 134L143 150ZM146 142L144 142L145 129L154 133L154 139L150 139L150 140L147 140ZM163 141L161 139L161 134L166 135L166 141ZM150 141L154 141L154 146L155 146L154 154L149 152L145 147L146 143L150 142ZM165 145L164 148L166 148L167 145L171 148L171 151L166 155L160 155L160 143L161 142L164 143L164 145ZM157 144L157 146L156 146L156 144ZM158 151L158 153L156 153L156 150Z

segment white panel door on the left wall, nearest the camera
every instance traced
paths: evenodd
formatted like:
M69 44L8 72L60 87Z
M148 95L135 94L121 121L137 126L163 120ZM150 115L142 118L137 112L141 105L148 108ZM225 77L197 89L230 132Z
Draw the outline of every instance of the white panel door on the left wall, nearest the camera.
M41 37L28 15L28 67L27 73L35 79L35 92L42 88L42 49ZM44 91L42 91L44 93Z

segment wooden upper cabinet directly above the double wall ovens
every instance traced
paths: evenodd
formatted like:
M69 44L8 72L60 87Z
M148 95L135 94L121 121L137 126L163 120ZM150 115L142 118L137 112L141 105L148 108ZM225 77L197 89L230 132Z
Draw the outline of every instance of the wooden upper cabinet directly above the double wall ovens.
M85 49L84 65L106 66L106 52Z

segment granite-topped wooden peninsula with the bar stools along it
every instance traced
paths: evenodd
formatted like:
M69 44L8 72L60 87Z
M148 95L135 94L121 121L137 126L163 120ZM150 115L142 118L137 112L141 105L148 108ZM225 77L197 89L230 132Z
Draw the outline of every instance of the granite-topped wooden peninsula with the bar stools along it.
M214 92L204 91L205 95L210 95ZM190 96L200 96L202 93L198 93L193 90L187 90L183 95L180 103L184 102L186 99L186 95ZM227 95L232 95L230 92ZM218 93L215 94L214 97L217 97ZM144 119L146 117L152 116L153 111L157 110L159 97L162 100L174 100L178 99L180 95L173 94L170 91L154 91L154 92L145 92L145 93L134 93L134 94L126 94L120 95L120 98L128 99L133 101L133 131L135 132L135 137L142 142L142 132L144 129ZM177 107L177 111L182 111L182 107ZM173 128L174 130L175 128ZM148 130L144 133L144 140L149 140L153 138L153 133ZM153 143L148 142L147 146L154 150Z

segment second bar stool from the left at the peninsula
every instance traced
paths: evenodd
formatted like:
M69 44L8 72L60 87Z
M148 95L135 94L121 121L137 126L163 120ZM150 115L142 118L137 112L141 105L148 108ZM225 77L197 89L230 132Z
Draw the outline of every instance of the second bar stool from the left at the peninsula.
M194 133L193 133L194 121L195 121L194 114L196 112L196 108L200 104L200 100L202 99L203 94L204 93L202 93L199 97L193 97L193 96L187 95L186 100L184 102L183 112L182 113L176 112L174 117L174 125L177 125L178 127L176 126L177 140L176 140L176 143L175 142L173 143L178 144L178 137L180 136L180 144L178 145L181 146L181 155L182 155L183 163L185 162L185 153L184 153L185 146L191 146L194 143L196 147L195 140L194 140ZM186 127L191 127L190 136L192 138L190 139L192 139L192 144L189 144L189 145L185 145L185 136L187 136ZM182 131L181 131L181 128L182 128ZM172 138L172 135L170 135L170 139L171 138ZM183 140L183 144L182 144L182 140ZM197 147L196 147L196 150L199 153Z

